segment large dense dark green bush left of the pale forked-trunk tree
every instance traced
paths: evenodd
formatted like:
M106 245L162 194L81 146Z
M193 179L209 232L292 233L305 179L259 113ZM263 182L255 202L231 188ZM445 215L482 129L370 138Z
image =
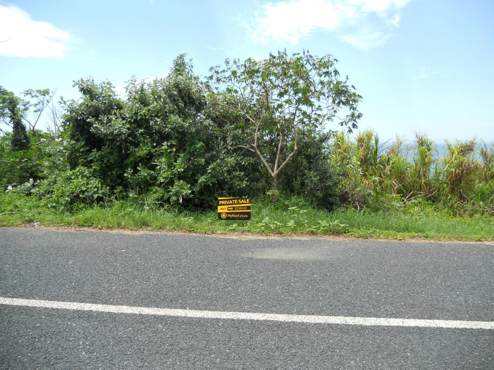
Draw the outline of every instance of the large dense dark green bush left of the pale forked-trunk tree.
M67 104L69 163L92 168L110 192L152 190L156 201L210 208L217 196L256 190L255 159L221 134L183 55L164 79L131 79L126 101L110 83L75 85L83 100Z

